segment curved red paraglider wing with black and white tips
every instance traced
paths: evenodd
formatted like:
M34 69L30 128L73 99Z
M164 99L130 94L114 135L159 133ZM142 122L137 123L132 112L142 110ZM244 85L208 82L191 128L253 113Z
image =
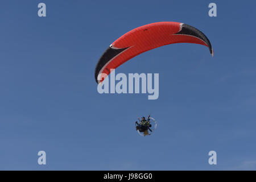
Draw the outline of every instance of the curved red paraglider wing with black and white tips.
M209 39L195 27L178 22L146 24L122 35L106 49L96 65L95 80L102 82L113 69L143 52L174 43L201 44L207 46L213 56Z

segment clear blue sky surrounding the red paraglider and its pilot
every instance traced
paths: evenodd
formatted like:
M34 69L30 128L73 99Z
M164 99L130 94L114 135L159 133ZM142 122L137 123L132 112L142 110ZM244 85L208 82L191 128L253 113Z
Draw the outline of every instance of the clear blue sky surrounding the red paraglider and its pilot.
M46 18L37 15L40 2ZM1 1L0 169L256 169L255 5ZM109 44L160 21L199 28L214 57L196 44L156 48L115 73L159 73L158 100L98 94L94 68ZM141 137L134 121L149 113L158 129ZM46 166L37 163L40 150ZM208 164L211 150L216 166Z

